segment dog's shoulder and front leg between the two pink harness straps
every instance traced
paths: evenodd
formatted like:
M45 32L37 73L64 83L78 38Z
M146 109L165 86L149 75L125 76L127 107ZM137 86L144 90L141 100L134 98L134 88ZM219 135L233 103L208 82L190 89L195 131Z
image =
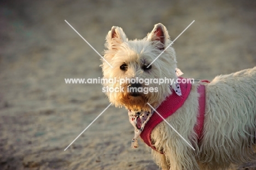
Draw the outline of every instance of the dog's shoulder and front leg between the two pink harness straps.
M194 146L195 151L164 121L157 125L151 133L154 146L165 153L164 156L154 156L156 162L167 163L165 167L171 170L200 169L196 160L199 155L199 147L196 133L193 131L197 121L198 97L197 86L192 86L183 107L166 119L185 140Z

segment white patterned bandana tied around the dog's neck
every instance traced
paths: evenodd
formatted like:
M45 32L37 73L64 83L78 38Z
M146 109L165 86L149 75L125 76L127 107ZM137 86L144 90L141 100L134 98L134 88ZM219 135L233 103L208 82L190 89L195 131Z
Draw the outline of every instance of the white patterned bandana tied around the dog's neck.
M181 76L183 73L180 69L176 68L177 77ZM181 87L178 83L175 84L174 91L178 96L182 96ZM156 109L156 108L155 108ZM141 132L144 129L144 126L149 121L150 117L153 115L154 110L150 112L136 112L128 110L129 120L132 126L134 127L134 137L132 138L131 147L138 148L138 137L141 135Z

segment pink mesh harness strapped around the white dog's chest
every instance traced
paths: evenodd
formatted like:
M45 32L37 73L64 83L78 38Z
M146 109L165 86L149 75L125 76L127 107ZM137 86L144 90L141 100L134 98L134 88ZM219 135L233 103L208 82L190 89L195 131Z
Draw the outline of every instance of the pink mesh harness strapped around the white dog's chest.
M183 79L183 78L182 78ZM201 82L209 82L207 80L203 80ZM168 96L164 102L162 102L159 107L156 109L156 111L161 114L163 118L168 118L168 116L171 116L174 114L179 108L182 107L185 100L188 98L190 90L191 90L191 84L180 84L182 96L178 96L176 92L172 92L172 95ZM205 85L199 85L197 92L199 92L199 114L197 115L197 123L195 125L195 132L197 133L198 140L202 138L202 132L203 132L203 121L205 119ZM151 132L155 128L156 125L160 124L162 122L162 118L158 114L153 114L147 124L145 125L143 131L141 132L141 138L144 140L144 142L150 146L152 149L156 150L155 146L151 143Z

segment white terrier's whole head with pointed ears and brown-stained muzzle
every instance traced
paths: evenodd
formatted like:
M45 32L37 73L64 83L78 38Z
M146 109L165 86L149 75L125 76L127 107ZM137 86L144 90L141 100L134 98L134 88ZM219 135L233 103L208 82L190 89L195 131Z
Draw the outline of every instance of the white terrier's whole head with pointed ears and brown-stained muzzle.
M177 78L175 51L171 46L167 48L170 43L162 24L156 24L141 40L128 40L122 28L113 26L106 37L107 50L101 65L103 91L109 101L131 110L150 110L147 103L156 107L164 101L172 91L169 84L157 80Z

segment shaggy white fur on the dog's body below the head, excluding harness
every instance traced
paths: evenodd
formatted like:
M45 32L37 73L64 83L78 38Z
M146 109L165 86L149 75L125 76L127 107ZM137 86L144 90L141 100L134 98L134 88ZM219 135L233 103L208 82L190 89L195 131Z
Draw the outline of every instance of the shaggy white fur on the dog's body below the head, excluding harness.
M165 122L152 139L165 155L152 150L163 169L226 169L231 163L255 160L256 67L220 75L206 85L203 138L197 143L193 127L198 113L197 85L184 105L167 121L193 144L192 150Z

